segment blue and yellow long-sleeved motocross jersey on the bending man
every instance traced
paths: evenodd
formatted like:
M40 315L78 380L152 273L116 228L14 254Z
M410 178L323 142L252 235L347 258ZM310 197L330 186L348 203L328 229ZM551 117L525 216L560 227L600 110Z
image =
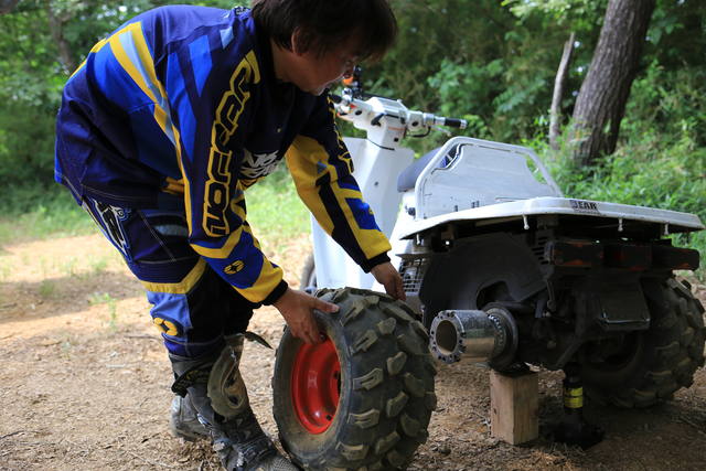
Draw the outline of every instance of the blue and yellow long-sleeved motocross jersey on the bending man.
M350 256L366 271L388 260L332 104L276 78L248 10L148 11L98 42L64 88L56 180L78 202L183 204L193 249L253 302L287 285L246 221L245 190L285 156L299 195Z

